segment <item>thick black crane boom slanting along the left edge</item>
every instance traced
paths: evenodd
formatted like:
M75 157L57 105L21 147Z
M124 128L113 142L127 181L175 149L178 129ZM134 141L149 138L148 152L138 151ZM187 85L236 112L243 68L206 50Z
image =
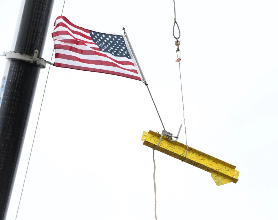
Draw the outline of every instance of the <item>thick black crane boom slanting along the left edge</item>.
M54 0L25 0L14 51L43 54ZM0 106L0 219L5 219L40 67L11 60ZM3 84L4 85L4 84Z

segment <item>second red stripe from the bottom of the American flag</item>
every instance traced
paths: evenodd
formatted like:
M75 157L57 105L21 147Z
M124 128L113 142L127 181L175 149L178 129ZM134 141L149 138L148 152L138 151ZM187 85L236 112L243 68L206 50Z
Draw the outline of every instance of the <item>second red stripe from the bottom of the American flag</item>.
M130 71L130 72L134 72L134 73L138 74L137 70L129 70L127 68L123 68L121 66L118 66L116 63L112 63L112 62L109 62L109 61L87 60L87 59L81 59L81 58L78 58L78 57L75 57L75 56L66 55L66 54L60 54L60 53L56 53L55 54L55 58L61 58L61 59L66 59L66 60L73 60L73 61L78 61L78 62L81 62L81 63L88 63L88 64L94 64L94 65L113 66L113 67L120 68L122 70Z

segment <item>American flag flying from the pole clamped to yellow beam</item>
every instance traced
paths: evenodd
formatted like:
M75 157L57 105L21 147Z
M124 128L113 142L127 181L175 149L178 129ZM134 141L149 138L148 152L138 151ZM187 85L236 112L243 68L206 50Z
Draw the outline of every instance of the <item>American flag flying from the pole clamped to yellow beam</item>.
M64 16L57 17L54 26L54 66L142 80L124 35L81 28Z

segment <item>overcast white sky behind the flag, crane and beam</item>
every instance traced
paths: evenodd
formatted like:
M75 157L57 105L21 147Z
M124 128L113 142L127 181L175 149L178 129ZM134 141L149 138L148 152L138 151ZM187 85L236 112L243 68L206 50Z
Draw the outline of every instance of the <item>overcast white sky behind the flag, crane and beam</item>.
M56 0L43 58L50 60ZM11 50L20 1L1 1L0 51ZM278 2L176 0L189 146L237 166L239 181L156 153L163 219L277 219ZM78 26L126 28L167 130L183 122L172 1L66 0ZM0 72L6 60L0 59ZM7 219L15 219L47 70L36 90ZM162 126L140 81L51 67L19 208L22 219L154 219L152 150ZM185 142L184 132L180 142Z

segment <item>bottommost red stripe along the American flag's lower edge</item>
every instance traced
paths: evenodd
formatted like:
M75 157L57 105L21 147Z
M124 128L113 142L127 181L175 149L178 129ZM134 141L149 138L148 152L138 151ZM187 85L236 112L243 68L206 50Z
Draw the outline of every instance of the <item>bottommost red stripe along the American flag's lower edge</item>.
M63 63L54 63L53 66L70 68L70 69L75 69L75 70L85 70L85 71L90 71L90 72L101 72L101 73L117 75L117 76L122 76L122 77L129 78L129 79L136 79L136 80L141 81L140 77L129 75L129 74L125 74L125 73L121 73L121 72L114 72L114 71L109 71L109 70L101 70L101 69L95 69L95 68L89 68L89 67L73 66L73 65L63 64Z

